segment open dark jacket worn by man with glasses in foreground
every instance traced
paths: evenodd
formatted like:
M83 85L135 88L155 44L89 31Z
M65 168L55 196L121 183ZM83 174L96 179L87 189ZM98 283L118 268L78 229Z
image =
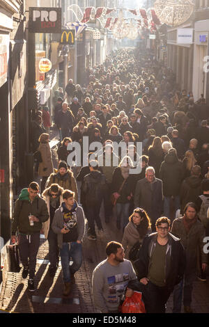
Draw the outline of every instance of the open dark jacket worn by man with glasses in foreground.
M139 259L134 262L136 267L138 280L148 276L150 257L157 243L157 233L149 234L145 239L139 251ZM185 250L180 244L180 239L169 233L169 241L167 243L167 255L165 260L165 283L166 287L173 289L180 280L183 279L185 272ZM139 285L139 282L137 282ZM136 283L130 282L128 287L134 290Z

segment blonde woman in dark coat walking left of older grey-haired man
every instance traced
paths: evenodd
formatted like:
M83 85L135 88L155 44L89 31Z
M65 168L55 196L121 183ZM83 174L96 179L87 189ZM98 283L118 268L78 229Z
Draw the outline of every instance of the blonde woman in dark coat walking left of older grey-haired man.
M128 223L130 200L134 192L134 175L130 174L130 168L133 168L132 160L125 156L119 166L115 168L112 176L111 193L116 202L116 226L118 230L121 227L124 230Z

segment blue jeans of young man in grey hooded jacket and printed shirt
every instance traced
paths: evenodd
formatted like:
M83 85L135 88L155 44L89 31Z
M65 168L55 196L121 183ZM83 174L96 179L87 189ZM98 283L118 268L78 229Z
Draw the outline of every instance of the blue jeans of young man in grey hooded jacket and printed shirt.
M64 282L70 282L70 273L74 274L82 266L82 244L77 242L63 243L60 249L61 265ZM73 264L70 264L70 257Z

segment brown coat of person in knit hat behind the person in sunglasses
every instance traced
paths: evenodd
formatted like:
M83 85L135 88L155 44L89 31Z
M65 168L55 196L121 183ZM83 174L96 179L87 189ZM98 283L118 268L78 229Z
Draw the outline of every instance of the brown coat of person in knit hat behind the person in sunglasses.
M64 176L59 173L52 173L47 180L46 187L52 184L59 184L64 190L75 192L75 200L78 200L77 183L71 170L68 169Z

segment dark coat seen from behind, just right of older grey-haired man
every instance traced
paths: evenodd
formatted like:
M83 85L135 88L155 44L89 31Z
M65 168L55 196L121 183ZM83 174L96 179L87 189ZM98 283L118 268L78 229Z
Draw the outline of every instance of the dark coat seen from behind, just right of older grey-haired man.
M175 153L168 153L160 166L159 174L164 196L179 196L183 173L183 163L178 160Z

